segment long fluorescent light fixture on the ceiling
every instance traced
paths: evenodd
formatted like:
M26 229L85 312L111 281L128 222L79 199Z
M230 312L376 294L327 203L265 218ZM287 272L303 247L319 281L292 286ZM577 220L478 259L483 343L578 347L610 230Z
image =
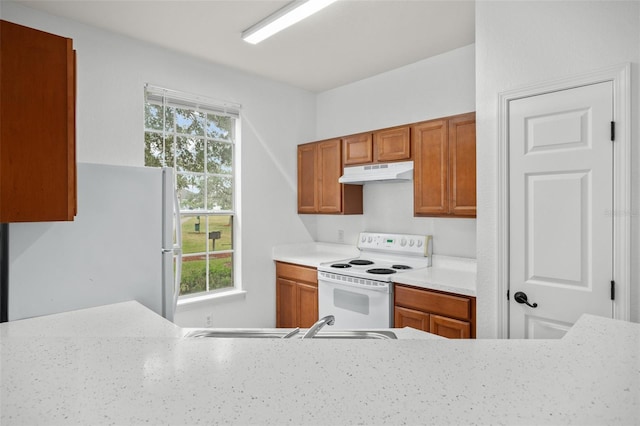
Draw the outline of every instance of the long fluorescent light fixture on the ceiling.
M277 32L302 21L336 0L295 0L242 32L242 39L258 44Z

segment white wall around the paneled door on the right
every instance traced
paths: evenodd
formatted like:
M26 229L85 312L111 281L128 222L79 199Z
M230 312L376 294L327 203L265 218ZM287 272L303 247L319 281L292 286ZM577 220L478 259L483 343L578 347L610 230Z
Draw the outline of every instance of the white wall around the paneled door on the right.
M478 336L498 333L496 169L498 94L632 63L632 319L639 320L640 2L476 2Z

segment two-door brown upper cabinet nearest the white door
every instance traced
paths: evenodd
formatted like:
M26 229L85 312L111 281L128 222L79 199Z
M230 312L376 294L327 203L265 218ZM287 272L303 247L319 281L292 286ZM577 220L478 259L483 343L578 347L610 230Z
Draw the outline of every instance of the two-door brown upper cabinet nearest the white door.
M476 216L475 112L411 127L414 214Z

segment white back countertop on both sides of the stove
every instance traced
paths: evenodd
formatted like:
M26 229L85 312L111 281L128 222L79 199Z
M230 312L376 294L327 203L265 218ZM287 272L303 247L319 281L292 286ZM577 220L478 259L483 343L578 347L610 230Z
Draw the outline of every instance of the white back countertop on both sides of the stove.
M345 244L287 244L273 248L273 260L317 268L325 262L357 257L357 247ZM450 256L433 256L431 268L403 272L394 282L450 293L476 295L476 260Z

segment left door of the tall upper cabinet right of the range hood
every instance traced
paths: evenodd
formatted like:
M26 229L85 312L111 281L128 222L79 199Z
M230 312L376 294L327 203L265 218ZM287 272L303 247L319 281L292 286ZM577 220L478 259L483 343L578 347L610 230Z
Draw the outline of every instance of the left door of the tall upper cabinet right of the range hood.
M412 127L414 141L414 213L449 212L447 121L433 120Z

